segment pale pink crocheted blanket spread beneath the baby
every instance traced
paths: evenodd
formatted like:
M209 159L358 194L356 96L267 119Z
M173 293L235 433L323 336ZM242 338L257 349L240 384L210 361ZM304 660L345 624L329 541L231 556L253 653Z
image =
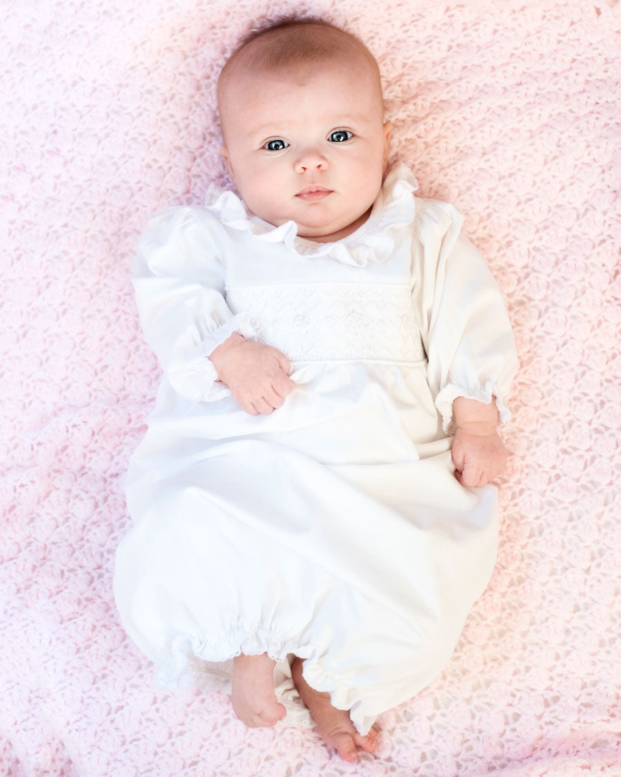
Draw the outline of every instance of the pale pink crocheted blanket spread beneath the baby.
M498 565L446 670L345 765L168 692L112 593L127 461L159 369L129 263L147 216L227 183L214 84L295 0L0 9L0 773L621 775L621 8L309 0L383 72L392 159L457 204L521 368Z

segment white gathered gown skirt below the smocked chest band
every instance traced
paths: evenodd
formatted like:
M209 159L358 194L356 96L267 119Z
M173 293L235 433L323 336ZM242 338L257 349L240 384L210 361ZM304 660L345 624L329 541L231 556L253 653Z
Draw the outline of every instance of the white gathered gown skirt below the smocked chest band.
M205 416L162 385L127 476L116 601L168 680L190 657L226 674L239 653L298 656L366 733L453 653L494 566L496 491L457 483L449 437L406 433L395 394L423 427L436 413L408 371L293 367L269 416L230 396Z

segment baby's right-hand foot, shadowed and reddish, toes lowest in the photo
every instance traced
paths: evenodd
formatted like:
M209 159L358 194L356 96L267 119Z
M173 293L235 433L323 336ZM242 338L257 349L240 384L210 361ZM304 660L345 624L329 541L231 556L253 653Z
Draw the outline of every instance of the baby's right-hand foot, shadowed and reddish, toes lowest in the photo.
M349 717L346 709L336 709L331 705L330 694L315 691L302 677L302 660L296 658L291 665L293 682L300 692L302 701L311 711L313 720L317 723L317 730L324 738L326 744L335 747L344 761L356 761L358 754L356 747L362 747L367 753L372 753L377 747L378 733L371 728L363 737L356 731L356 727Z

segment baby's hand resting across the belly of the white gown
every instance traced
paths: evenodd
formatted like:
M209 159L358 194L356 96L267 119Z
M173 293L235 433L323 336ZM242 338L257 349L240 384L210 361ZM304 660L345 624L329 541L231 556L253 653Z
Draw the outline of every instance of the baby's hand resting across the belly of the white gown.
M234 333L210 354L218 380L225 383L241 409L253 416L283 406L295 386L290 364L276 348Z

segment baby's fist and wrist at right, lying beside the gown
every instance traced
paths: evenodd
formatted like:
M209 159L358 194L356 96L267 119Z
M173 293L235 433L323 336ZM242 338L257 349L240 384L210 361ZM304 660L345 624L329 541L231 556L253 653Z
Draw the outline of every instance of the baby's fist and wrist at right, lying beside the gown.
M484 486L505 471L507 451L498 436L498 409L458 396L453 402L457 427L453 439L455 476L462 486Z

